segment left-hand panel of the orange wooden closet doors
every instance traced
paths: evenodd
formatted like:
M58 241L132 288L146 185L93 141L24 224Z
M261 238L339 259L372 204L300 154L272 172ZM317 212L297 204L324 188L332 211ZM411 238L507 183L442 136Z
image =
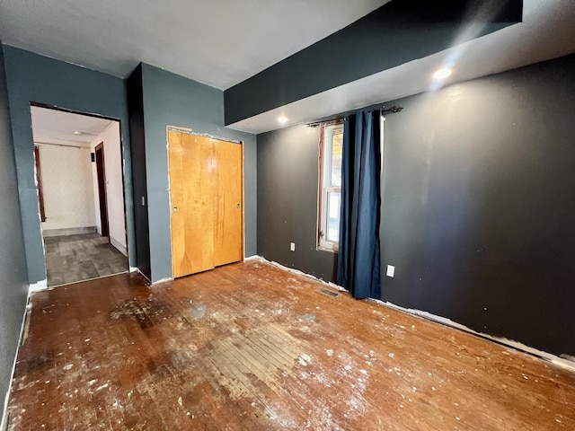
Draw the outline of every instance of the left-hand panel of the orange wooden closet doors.
M173 277L214 268L214 146L168 131Z

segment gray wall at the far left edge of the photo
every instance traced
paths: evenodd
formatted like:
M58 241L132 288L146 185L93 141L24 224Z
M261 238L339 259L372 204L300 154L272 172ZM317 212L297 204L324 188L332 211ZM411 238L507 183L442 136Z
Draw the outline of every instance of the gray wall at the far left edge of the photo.
M28 294L28 274L20 221L16 165L8 92L4 75L3 47L0 45L0 418L4 394L12 378L12 365Z

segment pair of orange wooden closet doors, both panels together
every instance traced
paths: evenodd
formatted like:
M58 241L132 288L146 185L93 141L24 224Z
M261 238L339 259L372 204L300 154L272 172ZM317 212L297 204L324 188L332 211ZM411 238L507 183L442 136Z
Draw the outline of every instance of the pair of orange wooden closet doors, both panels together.
M243 259L243 147L168 131L173 277Z

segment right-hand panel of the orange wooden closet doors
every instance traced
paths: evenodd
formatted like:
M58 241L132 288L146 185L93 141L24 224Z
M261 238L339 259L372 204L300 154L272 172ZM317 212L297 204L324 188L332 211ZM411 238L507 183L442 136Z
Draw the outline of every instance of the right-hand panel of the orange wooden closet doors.
M243 259L243 145L214 144L214 265Z

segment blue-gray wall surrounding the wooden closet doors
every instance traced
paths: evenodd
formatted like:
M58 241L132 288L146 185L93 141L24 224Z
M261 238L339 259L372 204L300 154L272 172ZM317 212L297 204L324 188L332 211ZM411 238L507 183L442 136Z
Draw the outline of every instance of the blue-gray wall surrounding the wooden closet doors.
M166 126L243 141L245 254L256 252L256 136L224 127L224 93L142 65L151 280L172 277Z

